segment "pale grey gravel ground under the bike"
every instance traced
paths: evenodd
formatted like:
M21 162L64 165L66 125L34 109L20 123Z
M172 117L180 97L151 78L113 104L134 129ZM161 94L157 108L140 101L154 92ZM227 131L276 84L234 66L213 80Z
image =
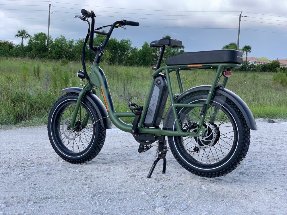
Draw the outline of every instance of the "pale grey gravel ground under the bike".
M0 130L0 214L286 214L287 122L257 120L244 161L226 176L189 173L131 134L107 130L100 154L75 165L53 150L46 126Z

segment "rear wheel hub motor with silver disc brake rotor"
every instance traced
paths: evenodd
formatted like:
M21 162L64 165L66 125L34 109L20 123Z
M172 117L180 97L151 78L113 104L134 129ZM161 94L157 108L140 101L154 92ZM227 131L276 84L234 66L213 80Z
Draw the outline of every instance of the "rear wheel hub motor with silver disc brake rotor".
M213 122L203 124L207 128L203 137L195 137L195 146L200 149L210 148L215 145L220 137L220 131Z

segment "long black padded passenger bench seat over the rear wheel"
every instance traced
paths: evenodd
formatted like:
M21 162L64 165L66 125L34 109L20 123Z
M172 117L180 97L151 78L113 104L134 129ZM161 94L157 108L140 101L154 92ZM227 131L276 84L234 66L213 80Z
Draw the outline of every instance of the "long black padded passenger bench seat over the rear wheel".
M225 49L203 52L183 52L166 59L166 65L242 63L242 53L238 50Z

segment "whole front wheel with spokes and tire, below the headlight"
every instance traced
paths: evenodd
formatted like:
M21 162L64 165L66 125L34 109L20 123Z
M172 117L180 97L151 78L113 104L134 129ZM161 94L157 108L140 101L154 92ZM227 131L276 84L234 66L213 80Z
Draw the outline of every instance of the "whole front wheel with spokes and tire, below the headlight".
M77 93L67 93L53 105L48 118L48 135L56 153L70 163L86 163L103 147L106 129L99 121L95 107L85 98L76 118L74 129L69 128Z

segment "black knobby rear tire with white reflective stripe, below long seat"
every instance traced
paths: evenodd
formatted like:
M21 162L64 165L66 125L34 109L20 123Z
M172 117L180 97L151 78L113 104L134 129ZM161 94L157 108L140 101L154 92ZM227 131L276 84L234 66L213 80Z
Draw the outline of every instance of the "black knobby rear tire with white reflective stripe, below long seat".
M196 97L201 97L202 95L207 95L208 91L195 91L192 93L189 93L180 99L176 101L177 103L189 103L191 101L195 101ZM218 93L217 93L218 95ZM220 95L220 94L219 94ZM238 150L231 155L232 158L227 161L222 167L218 167L212 171L202 171L201 169L197 169L186 161L184 161L180 156L177 155L176 149L175 149L175 144L173 136L168 136L168 143L170 146L170 150L172 154L174 155L175 159L180 163L181 166L183 166L186 170L189 172L201 176L201 177L219 177L222 175L226 175L233 171L238 165L243 161L245 158L248 148L249 148L249 143L250 143L250 129L246 124L245 118L239 108L228 98L226 98L226 101L224 102L224 107L228 108L232 116L234 117L234 120L236 121L236 124L238 126ZM194 165L194 163L193 163Z

